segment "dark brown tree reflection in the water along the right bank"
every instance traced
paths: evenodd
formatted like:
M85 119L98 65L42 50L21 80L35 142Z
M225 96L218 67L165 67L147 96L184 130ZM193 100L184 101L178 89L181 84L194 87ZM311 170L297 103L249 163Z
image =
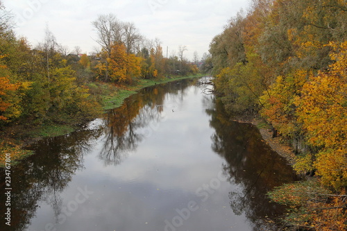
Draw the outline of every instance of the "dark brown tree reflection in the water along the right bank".
M245 214L254 230L269 228L267 217L276 218L284 207L271 203L266 193L283 182L298 180L291 166L262 142L260 132L249 123L230 121L220 101L210 114L212 150L226 160L223 173L235 191L230 191L230 207L237 215Z

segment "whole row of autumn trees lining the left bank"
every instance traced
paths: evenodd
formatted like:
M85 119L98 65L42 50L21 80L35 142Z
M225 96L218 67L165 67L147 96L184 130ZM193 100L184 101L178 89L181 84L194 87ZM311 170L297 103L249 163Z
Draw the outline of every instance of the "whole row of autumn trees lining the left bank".
M13 31L10 12L0 1L0 129L14 124L80 123L96 117L101 97L90 83L125 86L142 79L197 74L180 46L164 58L160 40L148 40L133 23L100 15L92 26L99 51L69 53L46 26L42 42L31 46Z

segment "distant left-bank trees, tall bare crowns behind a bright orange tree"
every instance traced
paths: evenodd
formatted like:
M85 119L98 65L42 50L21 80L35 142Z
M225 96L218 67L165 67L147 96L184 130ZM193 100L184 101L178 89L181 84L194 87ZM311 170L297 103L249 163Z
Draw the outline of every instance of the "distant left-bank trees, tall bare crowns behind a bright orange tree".
M198 71L184 57L186 46L179 46L178 55L164 58L158 38L146 39L133 23L121 22L113 14L99 15L92 25L101 46L96 54L97 78L105 82L131 83L136 76L150 79Z

